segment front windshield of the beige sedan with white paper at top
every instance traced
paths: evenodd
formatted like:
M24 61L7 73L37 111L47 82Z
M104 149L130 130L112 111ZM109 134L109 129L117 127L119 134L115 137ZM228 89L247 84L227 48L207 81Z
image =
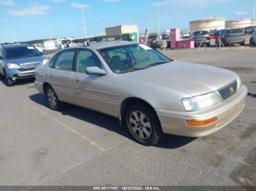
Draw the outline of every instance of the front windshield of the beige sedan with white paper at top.
M99 52L110 69L117 74L147 69L172 61L144 44L110 47Z

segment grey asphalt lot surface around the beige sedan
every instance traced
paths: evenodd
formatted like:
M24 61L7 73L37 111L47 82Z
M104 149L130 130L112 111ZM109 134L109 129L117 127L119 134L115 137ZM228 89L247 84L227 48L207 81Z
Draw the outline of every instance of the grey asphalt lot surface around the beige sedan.
M118 120L77 106L50 110L32 82L0 82L0 185L255 185L255 49L165 51L236 71L244 112L210 136L132 141Z

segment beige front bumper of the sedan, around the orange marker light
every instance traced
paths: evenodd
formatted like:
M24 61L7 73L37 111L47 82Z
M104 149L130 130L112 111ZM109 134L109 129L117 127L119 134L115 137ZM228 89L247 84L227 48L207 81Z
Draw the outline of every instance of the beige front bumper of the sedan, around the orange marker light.
M245 106L247 95L246 86L242 85L238 93L226 101L199 112L173 112L157 109L157 115L164 133L200 137L224 128L240 114ZM189 126L187 120L203 121L217 117L217 122L203 126Z

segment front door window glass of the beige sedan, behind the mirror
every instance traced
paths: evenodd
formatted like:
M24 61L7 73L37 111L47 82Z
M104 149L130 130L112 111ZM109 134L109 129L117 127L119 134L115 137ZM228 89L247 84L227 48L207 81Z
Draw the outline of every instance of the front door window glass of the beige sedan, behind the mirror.
M99 69L103 69L102 63L97 58L97 55L90 50L79 50L78 61L75 71L86 72L88 67L97 66Z

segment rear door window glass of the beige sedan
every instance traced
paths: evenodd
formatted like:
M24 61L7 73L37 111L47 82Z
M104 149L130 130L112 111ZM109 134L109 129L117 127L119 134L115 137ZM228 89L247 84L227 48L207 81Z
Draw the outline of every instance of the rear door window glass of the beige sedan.
M72 64L75 56L75 50L60 52L54 61L53 69L72 71Z

